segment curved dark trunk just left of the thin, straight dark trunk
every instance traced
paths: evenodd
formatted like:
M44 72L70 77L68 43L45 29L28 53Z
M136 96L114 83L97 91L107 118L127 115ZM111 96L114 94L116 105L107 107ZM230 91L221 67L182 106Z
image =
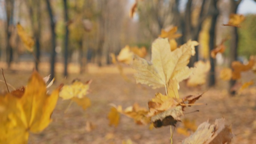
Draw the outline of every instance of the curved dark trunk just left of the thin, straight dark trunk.
M48 13L49 13L49 18L50 18L50 22L51 22L51 33L52 33L52 53L51 53L51 78L50 80L52 80L55 76L55 57L56 57L56 34L55 34L55 21L54 21L54 16L53 16L53 12L52 12L52 7L51 7L51 3L49 0L46 0L46 5L47 5L47 9L48 9Z

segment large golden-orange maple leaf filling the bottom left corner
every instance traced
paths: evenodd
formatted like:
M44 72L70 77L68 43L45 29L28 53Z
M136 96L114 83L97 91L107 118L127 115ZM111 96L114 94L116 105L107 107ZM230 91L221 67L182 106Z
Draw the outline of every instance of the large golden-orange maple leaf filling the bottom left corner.
M43 78L34 71L26 87L0 96L0 143L26 144L29 132L45 129L60 89L48 95Z

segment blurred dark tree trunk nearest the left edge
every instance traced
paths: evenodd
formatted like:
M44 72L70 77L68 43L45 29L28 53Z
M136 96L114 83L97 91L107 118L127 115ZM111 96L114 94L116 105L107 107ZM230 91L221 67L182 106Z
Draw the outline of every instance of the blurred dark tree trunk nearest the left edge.
M13 49L10 45L10 37L13 30L13 11L14 11L14 0L7 0L6 1L6 14L7 14L7 21L6 21L6 62L8 68L10 68L10 64L13 60Z

